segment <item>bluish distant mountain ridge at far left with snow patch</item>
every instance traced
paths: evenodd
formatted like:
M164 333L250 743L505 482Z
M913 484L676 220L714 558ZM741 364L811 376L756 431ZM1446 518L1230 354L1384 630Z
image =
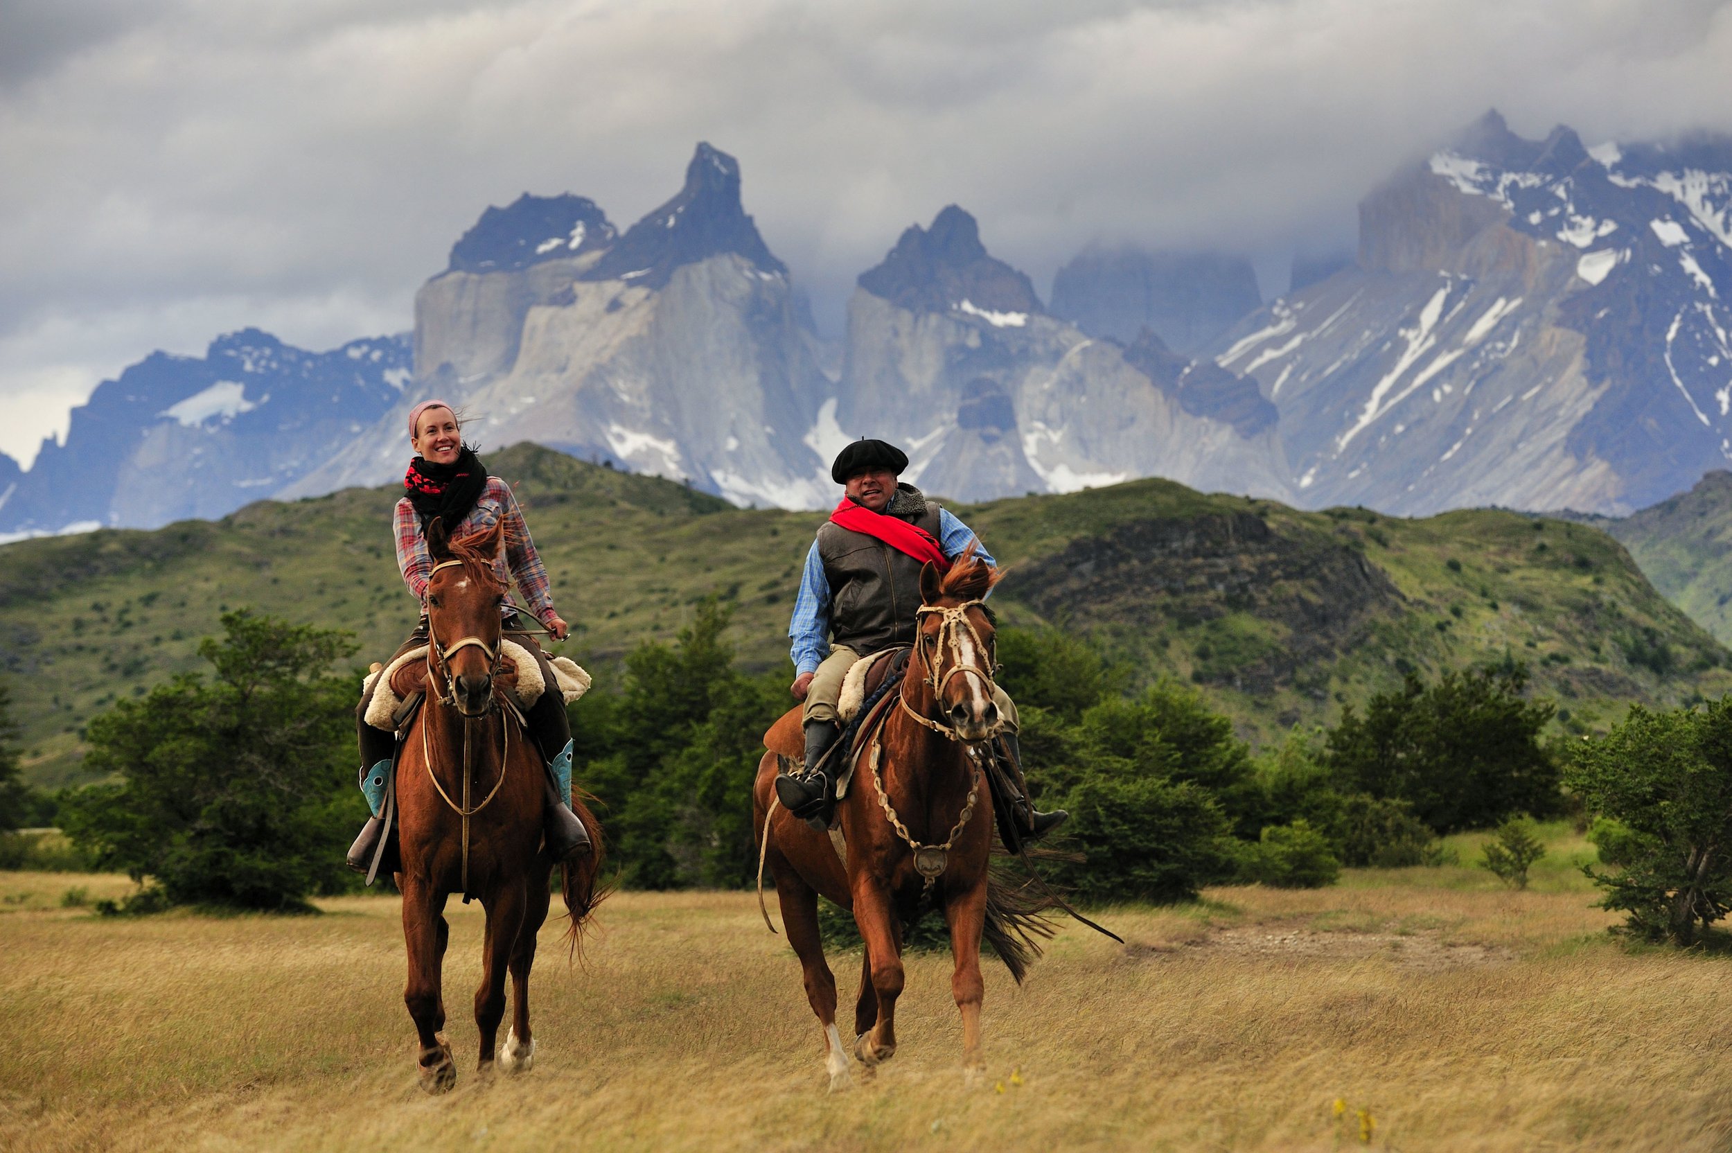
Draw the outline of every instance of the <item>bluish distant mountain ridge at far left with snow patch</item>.
M409 379L407 336L313 353L244 329L204 357L152 353L73 409L66 441L45 440L28 473L12 466L0 531L223 516L279 495L372 424Z

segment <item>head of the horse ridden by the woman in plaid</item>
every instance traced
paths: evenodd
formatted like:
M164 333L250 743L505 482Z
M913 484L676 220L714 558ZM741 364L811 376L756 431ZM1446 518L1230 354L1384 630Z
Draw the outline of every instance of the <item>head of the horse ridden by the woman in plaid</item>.
M506 587L494 575L504 521L456 540L438 518L428 525L428 667L440 699L466 717L480 717L494 701L499 670L499 606Z

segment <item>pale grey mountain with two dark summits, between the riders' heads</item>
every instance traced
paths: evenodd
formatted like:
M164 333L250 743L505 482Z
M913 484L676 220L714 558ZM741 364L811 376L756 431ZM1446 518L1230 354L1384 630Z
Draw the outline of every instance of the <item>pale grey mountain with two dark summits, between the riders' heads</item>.
M291 492L395 476L404 414L438 395L483 447L535 440L740 504L814 507L830 483L807 440L833 384L800 308L741 206L740 164L708 144L624 235L582 197L490 208L416 296L412 395Z

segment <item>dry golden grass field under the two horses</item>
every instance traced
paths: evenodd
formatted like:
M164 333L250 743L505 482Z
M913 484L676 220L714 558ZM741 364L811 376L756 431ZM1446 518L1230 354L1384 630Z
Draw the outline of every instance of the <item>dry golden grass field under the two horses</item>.
M0 874L0 1148L1337 1150L1360 1110L1387 1150L1727 1148L1732 959L1609 940L1588 847L1548 838L1522 893L1462 866L1110 911L1124 947L1067 930L1025 987L989 969L973 1085L947 959L914 957L895 1060L838 1096L750 893L615 895L578 968L549 926L537 1066L494 1084L454 902L462 1079L431 1099L395 900L102 919L62 893L125 879Z

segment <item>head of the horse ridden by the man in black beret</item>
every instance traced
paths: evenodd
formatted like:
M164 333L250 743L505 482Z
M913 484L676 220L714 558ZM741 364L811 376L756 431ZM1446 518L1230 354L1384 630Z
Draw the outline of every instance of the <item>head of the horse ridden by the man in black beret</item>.
M992 703L994 628L982 599L998 576L975 559L973 545L942 576L930 563L920 570L923 604L909 675L927 682L939 718L968 743L991 739L1003 724Z

